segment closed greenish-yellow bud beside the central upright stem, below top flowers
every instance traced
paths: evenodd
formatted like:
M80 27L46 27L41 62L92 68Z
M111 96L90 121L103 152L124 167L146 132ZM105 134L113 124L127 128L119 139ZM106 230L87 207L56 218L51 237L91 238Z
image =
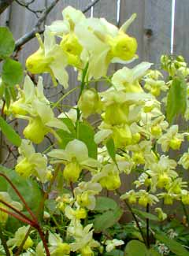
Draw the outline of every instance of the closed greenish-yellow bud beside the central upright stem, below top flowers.
M78 102L78 107L82 111L83 117L87 118L92 113L98 113L101 109L101 105L101 99L95 89L83 90Z

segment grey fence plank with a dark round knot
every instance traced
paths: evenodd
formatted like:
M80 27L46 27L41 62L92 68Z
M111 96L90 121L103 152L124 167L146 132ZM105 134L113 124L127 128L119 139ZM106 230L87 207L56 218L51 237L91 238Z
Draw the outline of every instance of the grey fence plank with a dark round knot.
M145 0L143 59L156 65L161 54L170 54L172 1Z

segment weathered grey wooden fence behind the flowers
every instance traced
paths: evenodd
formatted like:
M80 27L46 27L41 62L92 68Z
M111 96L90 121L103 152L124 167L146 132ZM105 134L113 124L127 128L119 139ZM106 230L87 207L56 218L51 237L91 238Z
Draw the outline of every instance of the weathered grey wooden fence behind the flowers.
M34 28L38 18L18 2L30 2L31 0L14 0L12 5L0 15L0 26L8 26L13 32L15 39L20 39ZM113 24L124 23L132 15L137 13L137 19L129 28L129 34L138 40L139 60L150 61L158 67L161 54L171 52L172 31L172 1L173 0L99 0L93 9L86 13L87 17L105 17ZM189 0L175 0L175 28L173 54L183 54L189 61ZM1 1L0 1L1 2ZM31 9L44 9L54 2L53 0L35 0ZM44 20L44 24L50 24L53 20L62 19L61 10L66 6L73 6L83 10L92 0L60 0L57 6ZM40 13L39 13L40 15ZM23 63L26 58L38 49L36 39L31 39L19 51L18 58ZM116 69L117 66L114 66ZM76 72L70 71L69 88L76 86ZM50 77L45 76L46 90L50 87ZM46 91L50 100L54 101L60 97L62 87L56 87ZM64 93L64 92L63 92ZM65 100L65 105L76 102L76 93Z

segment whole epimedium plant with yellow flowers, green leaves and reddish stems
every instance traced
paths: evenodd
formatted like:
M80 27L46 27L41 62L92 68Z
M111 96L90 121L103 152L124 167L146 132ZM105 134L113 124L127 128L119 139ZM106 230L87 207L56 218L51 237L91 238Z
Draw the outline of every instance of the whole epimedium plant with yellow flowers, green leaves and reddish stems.
M130 69L137 42L127 31L135 14L120 28L71 6L62 14L63 20L46 26L44 39L36 35L39 50L26 61L28 72L48 72L54 86L68 90L57 102L44 95L42 76L35 85L27 75L22 85L21 65L10 58L13 36L0 28L0 127L19 153L13 170L0 168L1 254L188 255L187 236L176 239L174 233L180 225L172 232L163 225L164 205L174 202L188 221L183 172L189 153L181 147L189 133L179 123L189 118L186 62L163 55L165 78L149 62ZM124 67L109 76L111 63ZM69 66L78 72L79 85L71 90ZM56 117L54 109L73 91L76 106ZM98 120L91 124L92 115ZM27 121L21 135L7 122L14 118ZM47 134L54 143L37 152ZM133 173L128 190L120 176ZM118 224L128 211L134 224Z

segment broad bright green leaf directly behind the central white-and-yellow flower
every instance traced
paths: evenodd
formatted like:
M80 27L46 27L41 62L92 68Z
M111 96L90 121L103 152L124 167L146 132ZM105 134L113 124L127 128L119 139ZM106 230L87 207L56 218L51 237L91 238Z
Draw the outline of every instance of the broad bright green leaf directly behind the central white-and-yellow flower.
M61 137L61 143L59 147L65 149L66 145L73 139L80 139L83 143L86 144L88 149L88 154L90 158L97 158L97 145L95 143L95 132L90 124L80 122L78 124L77 132L76 128L71 124L69 118L65 118L64 123L69 127L69 132L63 130L58 130L57 134Z

